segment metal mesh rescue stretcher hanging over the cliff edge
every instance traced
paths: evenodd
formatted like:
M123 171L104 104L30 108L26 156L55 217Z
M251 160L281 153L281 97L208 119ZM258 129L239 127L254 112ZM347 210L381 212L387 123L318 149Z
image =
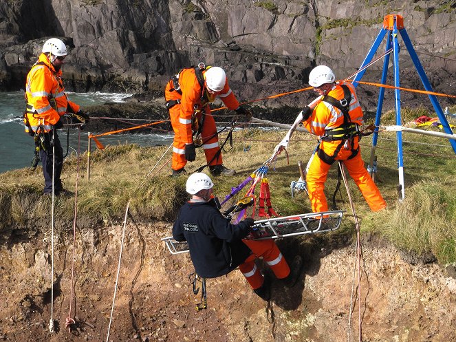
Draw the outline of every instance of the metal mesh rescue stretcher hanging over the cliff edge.
M342 222L345 211L324 211L321 213L307 213L285 217L274 217L258 220L252 226L252 232L246 239L281 239L298 235L325 233L335 231ZM166 247L171 254L188 252L186 241L179 242L172 236L163 237Z

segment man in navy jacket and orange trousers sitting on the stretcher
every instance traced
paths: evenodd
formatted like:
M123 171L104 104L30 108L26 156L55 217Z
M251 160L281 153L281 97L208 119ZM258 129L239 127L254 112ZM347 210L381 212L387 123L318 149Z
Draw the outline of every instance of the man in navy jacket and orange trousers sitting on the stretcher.
M239 266L254 292L269 300L269 279L263 277L255 264L257 258L263 257L274 275L284 279L285 286L294 286L302 266L301 257L294 258L291 272L274 240L244 239L250 233L253 219L249 217L239 224L231 224L215 204L213 185L205 173L190 175L186 191L192 196L191 200L182 206L173 225L174 239L188 242L197 275L220 277Z

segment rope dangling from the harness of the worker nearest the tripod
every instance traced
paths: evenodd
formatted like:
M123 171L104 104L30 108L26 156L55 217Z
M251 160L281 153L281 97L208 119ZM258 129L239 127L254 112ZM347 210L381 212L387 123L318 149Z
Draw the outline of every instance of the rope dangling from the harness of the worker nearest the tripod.
M355 264L358 266L358 330L359 330L359 339L358 341L362 341L362 323L361 323L361 266L360 266L360 259L361 259L361 240L360 240L360 222L358 221L358 216L356 215L355 206L353 200L351 200L351 193L348 187L347 182L347 175L345 175L345 169L343 166L343 162L339 161L339 169L340 174L344 180L345 189L347 189L347 195L350 202L351 211L353 213L353 217L355 219L355 228L356 228L356 253L355 253ZM353 294L354 294L354 277L353 283L351 287L351 300L350 300L350 313L349 313L349 326L348 326L348 341L350 341L350 326L351 326L351 312L353 308Z

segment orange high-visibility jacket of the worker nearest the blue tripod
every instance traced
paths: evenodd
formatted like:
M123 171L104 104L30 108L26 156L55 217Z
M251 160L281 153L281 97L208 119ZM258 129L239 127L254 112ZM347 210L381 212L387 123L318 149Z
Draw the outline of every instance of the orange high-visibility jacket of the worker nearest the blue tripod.
M349 109L351 122L362 125L364 122L362 119L362 109L360 103L358 102L355 89L351 83L343 84L347 85L351 92ZM342 100L344 98L344 91L340 85L335 85L331 90L329 90L327 95L332 96L336 100ZM314 108L312 115L307 120L303 121L305 128L317 136L323 136L325 135L325 130L340 127L343 123L343 112L333 105L323 101L318 103L318 105ZM338 144L339 142L336 143Z

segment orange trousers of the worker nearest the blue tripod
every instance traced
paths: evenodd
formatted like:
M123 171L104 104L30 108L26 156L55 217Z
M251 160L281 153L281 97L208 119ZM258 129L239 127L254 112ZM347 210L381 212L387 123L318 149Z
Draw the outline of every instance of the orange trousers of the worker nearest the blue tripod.
M358 154L354 158L346 159L351 156L351 153L352 151L350 150L341 149L336 160L342 160L345 167L347 167L351 178L354 179L358 189L360 189L372 211L380 211L386 208L387 202L384 201L378 187L367 172L361 158L361 151L358 151ZM328 154L332 156L332 154ZM323 162L323 160L318 157L317 153L314 153L306 176L307 191L309 191L312 211L314 211L314 213L328 211L324 190L327 173L330 167L330 164Z

